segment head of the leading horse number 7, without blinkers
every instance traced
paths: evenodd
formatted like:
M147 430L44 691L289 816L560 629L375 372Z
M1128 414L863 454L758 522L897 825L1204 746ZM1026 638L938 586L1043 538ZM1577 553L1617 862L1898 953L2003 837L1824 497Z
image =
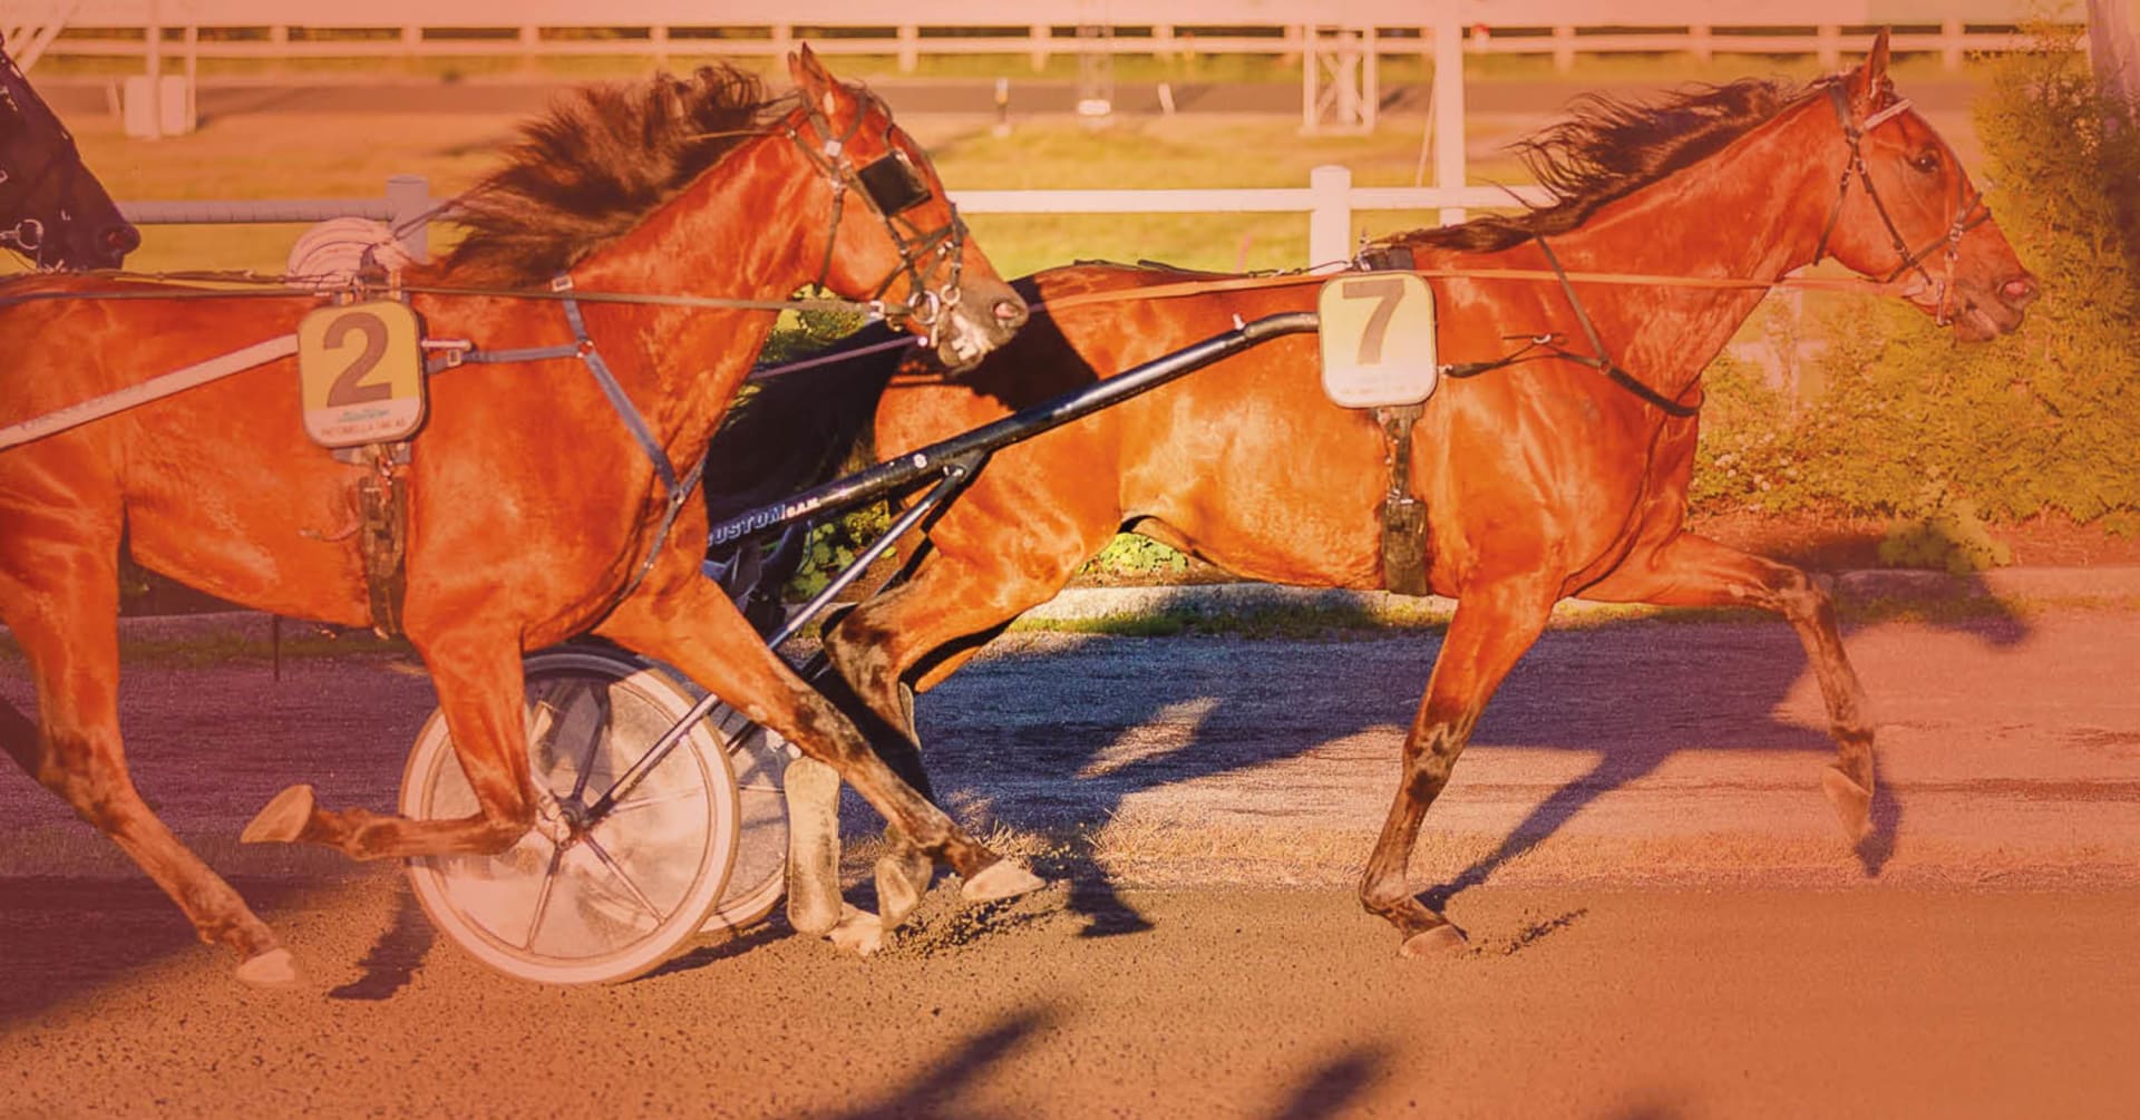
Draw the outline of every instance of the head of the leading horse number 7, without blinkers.
M1896 285L1965 340L2020 328L2042 293L2007 244L1954 148L1894 94L1887 32L1864 66L1825 86L1847 146L1843 184L1821 231L1823 253Z

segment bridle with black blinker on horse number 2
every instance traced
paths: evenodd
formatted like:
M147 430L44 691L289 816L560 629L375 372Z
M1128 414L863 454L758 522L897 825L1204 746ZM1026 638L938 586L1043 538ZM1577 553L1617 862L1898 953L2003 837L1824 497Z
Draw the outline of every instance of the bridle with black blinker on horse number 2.
M826 276L832 272L832 246L839 240L839 218L847 206L847 191L860 193L869 208L877 212L884 223L886 236L892 240L892 248L899 251L899 263L884 274L877 287L869 293L871 304L884 311L884 293L899 278L907 281L907 306L903 313L895 311L890 317L907 317L929 328L929 345L935 345L935 328L944 315L959 306L959 272L963 268L961 253L965 248L965 223L959 218L959 208L946 199L950 210L950 221L942 227L922 231L912 221L907 212L916 206L929 201L929 184L922 182L920 171L907 158L899 146L892 143L890 109L877 94L867 90L860 92L867 99L854 113L854 122L847 131L832 135L832 122L824 116L817 103L802 94L802 120L815 133L817 143L802 137L802 124L788 124L783 131L788 139L802 148L820 171L824 171L826 182L832 186L832 218L824 236L824 259L817 263L817 287L824 287ZM847 141L862 128L862 120L869 109L884 109L884 146L886 154L856 167L847 156ZM937 281L937 274L942 283ZM931 287L935 283L935 287Z

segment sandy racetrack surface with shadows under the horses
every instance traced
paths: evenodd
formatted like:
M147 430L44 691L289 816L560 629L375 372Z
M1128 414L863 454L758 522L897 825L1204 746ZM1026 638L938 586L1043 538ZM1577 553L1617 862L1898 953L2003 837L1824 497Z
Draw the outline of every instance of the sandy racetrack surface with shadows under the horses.
M235 846L291 780L392 803L430 707L404 666L135 666L141 788L308 983L238 987L4 777L0 1116L2125 1114L2140 615L1847 645L1885 780L1858 854L1815 788L1830 747L1783 625L1549 632L1412 863L1472 951L1402 962L1348 884L1432 632L1017 634L922 722L944 799L1049 891L961 910L939 882L869 962L768 923L603 989L486 972L392 867ZM28 702L19 662L0 692Z

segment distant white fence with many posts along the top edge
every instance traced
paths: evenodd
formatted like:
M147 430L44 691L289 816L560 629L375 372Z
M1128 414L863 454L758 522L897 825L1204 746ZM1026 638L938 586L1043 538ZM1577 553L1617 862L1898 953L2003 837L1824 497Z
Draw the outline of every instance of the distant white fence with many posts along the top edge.
M944 15L880 0L9 0L13 17L49 9L68 32L51 56L148 58L537 58L537 56L768 56L807 39L822 54L1008 54L1034 69L1053 54L1284 54L1310 28L1365 32L1376 54L1432 51L1432 26L1451 19L1470 54L1552 54L1560 66L1592 51L1813 54L1834 64L1870 28L1894 26L1896 49L2009 49L2031 0L1031 0L1017 19L959 6ZM1453 9L1449 13L1447 9ZM62 15L64 13L64 15ZM1076 34L1104 26L1109 34ZM148 28L156 28L150 34ZM201 32L208 32L205 36ZM593 34L591 34L593 32ZM171 41L167 45L167 41Z

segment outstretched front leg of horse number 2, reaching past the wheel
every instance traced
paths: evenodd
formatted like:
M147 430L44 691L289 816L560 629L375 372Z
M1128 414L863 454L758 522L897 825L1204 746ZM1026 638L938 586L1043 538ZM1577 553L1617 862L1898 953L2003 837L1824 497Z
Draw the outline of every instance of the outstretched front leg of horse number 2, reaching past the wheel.
M961 893L969 902L1014 897L1042 884L892 773L862 732L764 645L713 580L693 572L644 589L618 604L597 632L676 666L753 724L832 767L918 850L950 865L965 880Z

